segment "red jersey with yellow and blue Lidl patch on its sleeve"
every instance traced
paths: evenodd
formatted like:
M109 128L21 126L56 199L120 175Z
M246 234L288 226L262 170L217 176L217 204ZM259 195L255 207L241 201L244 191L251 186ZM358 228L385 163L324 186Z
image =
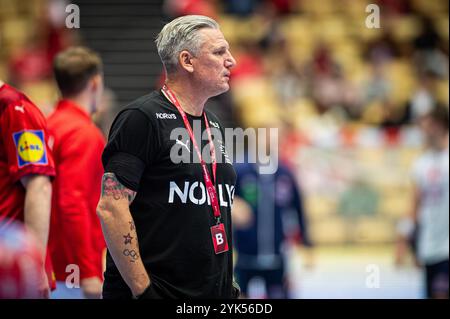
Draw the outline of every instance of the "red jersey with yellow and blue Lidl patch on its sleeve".
M54 176L53 158L48 148L45 118L23 93L4 84L0 87L0 222L24 221L26 175ZM54 288L51 263L46 270Z

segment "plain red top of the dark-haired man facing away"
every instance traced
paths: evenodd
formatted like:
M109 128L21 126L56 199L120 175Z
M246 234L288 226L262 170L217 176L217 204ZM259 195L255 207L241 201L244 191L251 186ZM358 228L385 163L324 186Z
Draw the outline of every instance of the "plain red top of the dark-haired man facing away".
M69 100L58 103L48 118L50 145L56 163L49 250L58 281L78 265L80 278L103 280L106 247L97 218L105 140L89 114ZM73 270L72 270L73 271Z

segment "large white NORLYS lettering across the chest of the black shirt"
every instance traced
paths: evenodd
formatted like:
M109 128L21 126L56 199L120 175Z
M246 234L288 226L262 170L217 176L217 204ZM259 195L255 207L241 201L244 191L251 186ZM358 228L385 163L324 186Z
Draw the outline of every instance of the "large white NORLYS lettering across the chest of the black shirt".
M189 202L195 205L208 203L211 206L211 198L206 189L202 182L184 182L184 185L178 186L176 182L171 181L169 184L168 202L169 204L177 202L186 204ZM234 197L234 185L218 184L217 197L220 206L231 207Z

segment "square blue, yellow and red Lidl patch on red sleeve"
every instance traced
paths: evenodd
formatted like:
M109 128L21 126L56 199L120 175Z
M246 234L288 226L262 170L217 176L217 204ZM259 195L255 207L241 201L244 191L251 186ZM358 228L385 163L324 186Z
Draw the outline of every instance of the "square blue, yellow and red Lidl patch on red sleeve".
M25 165L46 165L44 132L42 130L26 130L13 133L17 150L19 168Z

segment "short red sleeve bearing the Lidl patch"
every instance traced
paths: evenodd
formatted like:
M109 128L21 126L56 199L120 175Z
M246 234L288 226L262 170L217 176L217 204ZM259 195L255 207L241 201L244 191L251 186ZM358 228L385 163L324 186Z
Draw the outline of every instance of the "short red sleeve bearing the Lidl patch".
M30 174L55 175L46 121L35 105L22 100L7 106L0 127L8 171L14 181Z

